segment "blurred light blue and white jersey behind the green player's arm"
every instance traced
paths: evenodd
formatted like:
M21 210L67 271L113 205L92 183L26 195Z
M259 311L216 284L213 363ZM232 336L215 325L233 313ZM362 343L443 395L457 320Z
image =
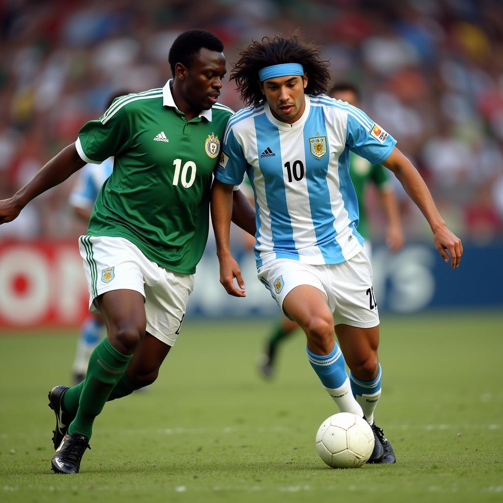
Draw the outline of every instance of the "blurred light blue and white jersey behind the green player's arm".
M77 208L92 210L102 185L112 174L113 167L113 157L109 157L101 164L83 166L68 198L69 204Z

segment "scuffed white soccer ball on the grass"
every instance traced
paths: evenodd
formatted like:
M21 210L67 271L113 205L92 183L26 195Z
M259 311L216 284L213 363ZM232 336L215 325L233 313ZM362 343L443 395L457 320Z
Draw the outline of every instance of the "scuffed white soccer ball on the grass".
M340 412L328 417L319 427L316 450L332 468L358 468L374 450L374 434L362 417Z

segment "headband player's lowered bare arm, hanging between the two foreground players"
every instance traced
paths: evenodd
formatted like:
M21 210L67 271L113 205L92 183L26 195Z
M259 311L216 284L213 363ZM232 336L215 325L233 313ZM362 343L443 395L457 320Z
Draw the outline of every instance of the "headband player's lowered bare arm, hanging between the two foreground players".
M233 186L213 180L211 188L211 221L215 232L217 257L220 263L220 283L229 295L246 297L239 265L230 253L230 221L232 216ZM240 288L234 284L234 278Z

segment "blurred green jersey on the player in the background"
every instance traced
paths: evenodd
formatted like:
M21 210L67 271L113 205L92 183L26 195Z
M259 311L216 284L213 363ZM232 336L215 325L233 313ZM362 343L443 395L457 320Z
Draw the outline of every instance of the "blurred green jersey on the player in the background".
M385 185L390 183L386 168L381 164L371 164L367 159L360 157L354 152L350 152L349 174L355 187L358 199L358 212L360 220L357 230L364 239L369 237L367 226L367 211L365 209L365 188L369 182L373 183L379 190L385 189Z

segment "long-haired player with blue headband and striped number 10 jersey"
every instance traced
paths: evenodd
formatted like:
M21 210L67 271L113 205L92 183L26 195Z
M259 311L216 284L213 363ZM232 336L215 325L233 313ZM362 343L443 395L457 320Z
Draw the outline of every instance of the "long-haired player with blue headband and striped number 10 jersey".
M452 268L459 266L462 245L391 135L358 108L322 94L327 66L319 48L296 35L265 37L239 54L231 79L250 106L227 124L212 190L220 282L230 295L245 296L229 226L232 187L247 173L255 195L260 281L304 330L309 363L339 409L371 425L369 462L394 463L391 444L373 417L381 395L379 315L372 269L356 230L350 151L395 174L428 220L446 262L447 249Z

